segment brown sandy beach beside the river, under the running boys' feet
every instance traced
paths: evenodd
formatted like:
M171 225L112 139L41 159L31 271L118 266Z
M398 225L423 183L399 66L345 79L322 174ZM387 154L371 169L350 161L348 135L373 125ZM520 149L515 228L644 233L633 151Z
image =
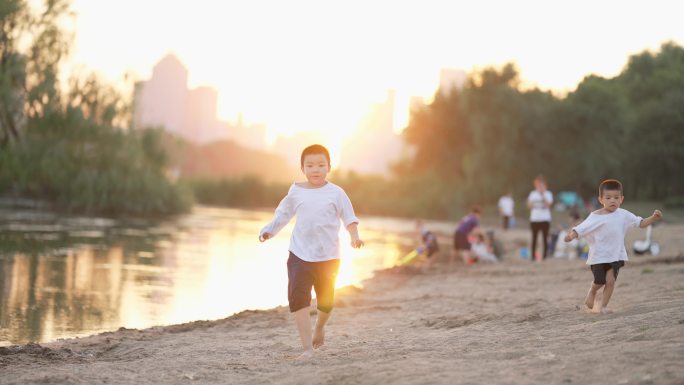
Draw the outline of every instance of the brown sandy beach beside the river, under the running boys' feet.
M584 261L517 259L520 229L503 263L394 268L338 290L307 362L279 307L0 348L0 384L684 384L682 234L663 225L660 256L631 256L613 314L582 308Z

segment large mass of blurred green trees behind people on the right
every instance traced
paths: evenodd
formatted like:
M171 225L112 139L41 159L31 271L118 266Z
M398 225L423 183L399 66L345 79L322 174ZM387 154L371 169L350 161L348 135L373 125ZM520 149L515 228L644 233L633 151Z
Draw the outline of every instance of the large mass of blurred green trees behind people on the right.
M437 175L461 203L524 196L537 174L585 198L605 178L630 199L684 196L684 48L635 55L619 76L588 76L564 98L519 83L513 65L486 68L414 110L404 136L415 156L396 176Z

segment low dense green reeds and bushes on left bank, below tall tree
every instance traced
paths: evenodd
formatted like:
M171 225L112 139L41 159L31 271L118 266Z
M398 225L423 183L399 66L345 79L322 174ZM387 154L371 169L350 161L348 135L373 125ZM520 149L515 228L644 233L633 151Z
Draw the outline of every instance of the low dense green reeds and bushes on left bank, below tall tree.
M78 114L55 115L47 128L46 123L29 125L24 140L0 154L0 191L46 199L63 210L108 215L189 208L189 192L172 185L155 159L158 131L126 133Z

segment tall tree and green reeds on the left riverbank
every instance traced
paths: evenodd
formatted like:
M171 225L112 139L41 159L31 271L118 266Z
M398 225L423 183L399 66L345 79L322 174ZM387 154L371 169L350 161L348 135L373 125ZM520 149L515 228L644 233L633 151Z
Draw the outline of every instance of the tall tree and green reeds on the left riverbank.
M70 48L68 0L0 0L0 194L108 215L188 210L189 190L165 173L159 130L128 131L130 107L97 77L59 86ZM28 48L20 50L19 42Z

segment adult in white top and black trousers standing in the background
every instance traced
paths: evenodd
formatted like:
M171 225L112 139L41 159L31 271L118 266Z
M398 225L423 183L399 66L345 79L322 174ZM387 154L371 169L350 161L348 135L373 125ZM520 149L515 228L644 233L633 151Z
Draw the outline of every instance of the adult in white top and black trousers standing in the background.
M537 255L537 235L540 231L542 233L541 241L544 245L542 259L545 259L548 253L551 204L553 204L553 194L546 189L546 178L543 175L538 175L534 178L534 190L527 196L527 207L530 209L530 228L532 230L531 261L534 261Z

